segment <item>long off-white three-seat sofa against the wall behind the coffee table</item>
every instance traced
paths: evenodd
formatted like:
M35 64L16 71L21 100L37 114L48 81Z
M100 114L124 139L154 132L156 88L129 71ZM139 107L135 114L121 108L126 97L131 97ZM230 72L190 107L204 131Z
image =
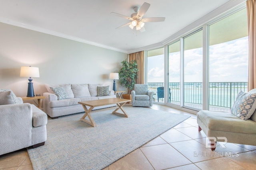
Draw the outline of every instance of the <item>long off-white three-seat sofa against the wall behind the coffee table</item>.
M89 101L89 100L99 100L106 98L116 98L113 90L108 89L108 94L106 96L98 95L98 87L107 87L104 84L60 84L60 85L50 85L45 84L48 92L43 95L46 97L43 100L44 112L46 112L52 119L58 118L59 116L69 115L73 113L84 112L84 108L78 102ZM62 87L67 98L63 100L58 100L58 94L54 94L52 88ZM109 87L108 87L109 88ZM113 107L115 104L95 107L95 109L102 109L106 107Z

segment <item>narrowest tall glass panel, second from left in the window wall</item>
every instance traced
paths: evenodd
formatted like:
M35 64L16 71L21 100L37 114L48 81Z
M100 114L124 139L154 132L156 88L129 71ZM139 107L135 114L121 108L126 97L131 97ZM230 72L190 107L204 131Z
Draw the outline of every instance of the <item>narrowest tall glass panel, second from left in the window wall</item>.
M168 45L169 103L180 105L180 40Z

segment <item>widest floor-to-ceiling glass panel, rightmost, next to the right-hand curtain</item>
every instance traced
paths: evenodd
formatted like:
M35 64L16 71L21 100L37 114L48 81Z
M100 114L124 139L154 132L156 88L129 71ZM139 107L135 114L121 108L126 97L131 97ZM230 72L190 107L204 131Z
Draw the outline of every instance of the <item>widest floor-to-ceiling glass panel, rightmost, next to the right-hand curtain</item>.
M209 25L209 110L230 111L241 90L247 92L246 8Z

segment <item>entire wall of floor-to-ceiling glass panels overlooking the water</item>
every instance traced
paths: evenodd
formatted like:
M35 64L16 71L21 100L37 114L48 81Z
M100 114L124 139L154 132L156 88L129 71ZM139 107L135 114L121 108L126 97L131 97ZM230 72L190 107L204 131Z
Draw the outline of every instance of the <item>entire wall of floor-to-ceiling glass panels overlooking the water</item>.
M239 8L175 37L166 50L147 51L147 83L155 102L229 111L238 92L247 91L247 17L245 6ZM158 97L158 87L165 98Z

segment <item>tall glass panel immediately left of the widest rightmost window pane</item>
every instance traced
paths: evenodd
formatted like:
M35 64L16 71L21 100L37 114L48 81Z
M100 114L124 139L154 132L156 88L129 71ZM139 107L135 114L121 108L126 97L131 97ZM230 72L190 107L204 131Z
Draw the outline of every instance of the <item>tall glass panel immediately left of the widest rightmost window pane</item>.
M184 107L202 109L202 29L184 37Z

